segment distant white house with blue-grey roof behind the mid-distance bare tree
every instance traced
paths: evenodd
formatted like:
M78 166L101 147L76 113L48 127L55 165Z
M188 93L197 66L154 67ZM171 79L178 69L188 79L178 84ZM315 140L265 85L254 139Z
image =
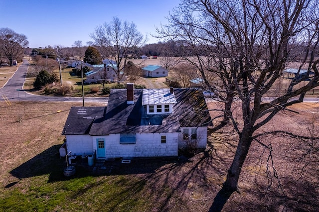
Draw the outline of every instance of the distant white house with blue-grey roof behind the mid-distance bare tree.
M100 83L101 80L115 82L117 77L117 66L113 64L93 65L93 70L85 73L85 83Z

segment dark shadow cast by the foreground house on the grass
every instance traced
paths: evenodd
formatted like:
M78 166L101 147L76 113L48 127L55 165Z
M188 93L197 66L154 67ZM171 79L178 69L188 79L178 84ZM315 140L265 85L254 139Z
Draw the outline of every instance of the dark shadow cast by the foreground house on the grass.
M63 169L66 167L66 158L59 156L59 148L61 144L51 146L40 154L34 156L30 160L11 170L9 173L18 178L30 178L35 176L49 175L48 183L57 181L66 181L70 178L82 178L97 175L127 175L127 174L149 174L155 173L156 169L167 164L176 162L187 162L187 159L174 158L150 158L150 159L134 159L131 163L123 164L121 160L105 161L102 164L89 166L87 161L81 161L78 156L76 162L72 166L76 167L76 174L72 177L65 177ZM9 188L17 182L10 183L5 186Z

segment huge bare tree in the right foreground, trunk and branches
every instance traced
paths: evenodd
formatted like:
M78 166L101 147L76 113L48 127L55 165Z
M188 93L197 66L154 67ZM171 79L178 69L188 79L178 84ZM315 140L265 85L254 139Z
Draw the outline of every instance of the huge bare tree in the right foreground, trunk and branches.
M224 102L224 120L228 118L238 133L227 179L210 211L221 211L231 194L240 191L238 179L256 131L319 86L318 5L318 0L182 0L170 23L159 30L192 51L194 57L185 60L197 67L205 84ZM305 53L298 68L307 74L298 73L285 95L265 102L263 97L293 60L290 53L301 41ZM205 71L214 72L222 86L212 86ZM310 78L311 71L315 75ZM304 80L309 81L297 87ZM240 104L241 120L231 110L234 98Z

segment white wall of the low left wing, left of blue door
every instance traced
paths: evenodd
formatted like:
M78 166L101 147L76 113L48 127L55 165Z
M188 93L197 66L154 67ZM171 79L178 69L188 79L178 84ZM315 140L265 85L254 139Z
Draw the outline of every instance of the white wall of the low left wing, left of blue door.
M66 150L73 155L93 154L92 137L90 135L66 135Z

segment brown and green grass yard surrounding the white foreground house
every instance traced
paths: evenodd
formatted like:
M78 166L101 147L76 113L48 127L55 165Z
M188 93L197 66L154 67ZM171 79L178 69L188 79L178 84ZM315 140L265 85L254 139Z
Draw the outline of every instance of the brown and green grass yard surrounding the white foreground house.
M58 148L70 107L81 104L11 104L0 102L0 211L206 212L226 178L236 146L236 135L228 126L211 134L207 149L190 158L137 161L97 176L80 169L68 179L62 174L65 160L58 157ZM299 114L282 112L261 132L281 129L307 135L313 129L318 134L319 104L290 109ZM240 177L241 194L234 193L224 211L319 211L318 161L301 172L311 159L304 155L307 148L318 144L284 135L260 141L272 144L274 164L269 151L254 142ZM316 159L318 153L311 156Z

